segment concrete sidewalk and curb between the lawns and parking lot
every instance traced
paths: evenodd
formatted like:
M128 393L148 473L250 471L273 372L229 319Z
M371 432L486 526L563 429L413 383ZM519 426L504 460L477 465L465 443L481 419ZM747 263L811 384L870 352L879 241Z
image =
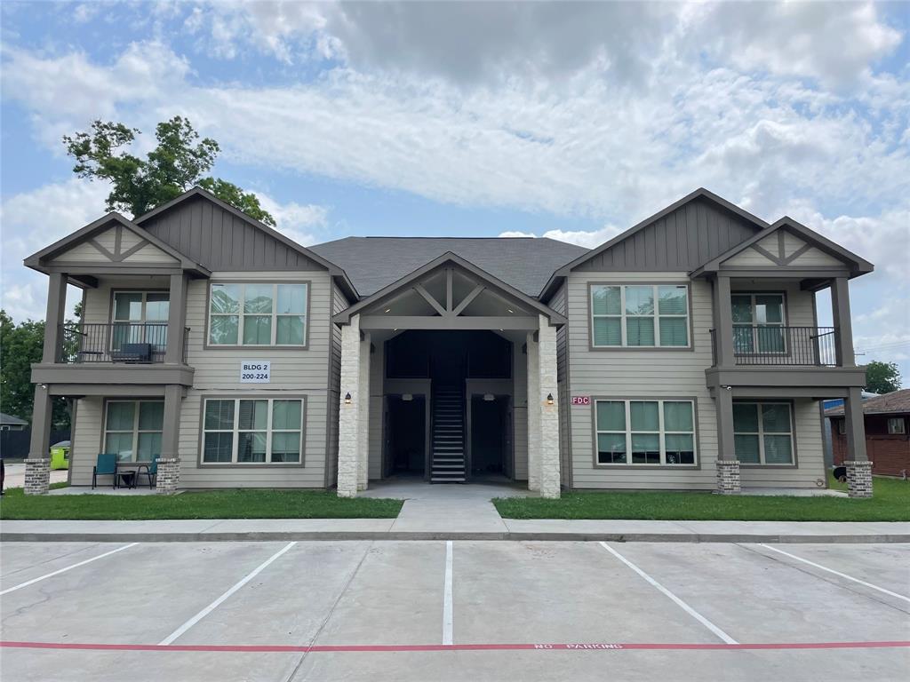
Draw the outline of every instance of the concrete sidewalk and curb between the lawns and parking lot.
M495 510L494 510L495 511ZM498 516L498 515L497 515ZM402 513L402 517L404 514ZM602 540L612 542L910 542L910 523L566 521L490 517L3 521L4 542L225 542L266 540Z

